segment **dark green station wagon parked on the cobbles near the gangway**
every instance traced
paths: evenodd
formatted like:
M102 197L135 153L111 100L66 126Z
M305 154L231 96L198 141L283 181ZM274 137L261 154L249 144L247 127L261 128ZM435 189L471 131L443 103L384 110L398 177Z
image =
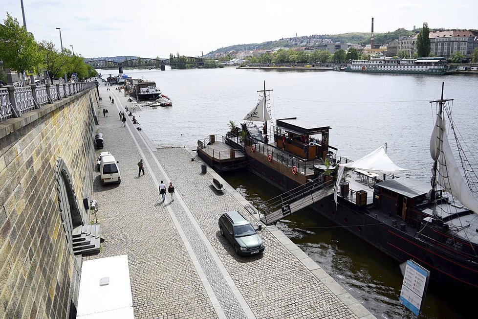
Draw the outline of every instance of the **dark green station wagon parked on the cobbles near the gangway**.
M228 211L218 221L221 235L234 246L239 255L253 255L264 251L261 236L238 211Z

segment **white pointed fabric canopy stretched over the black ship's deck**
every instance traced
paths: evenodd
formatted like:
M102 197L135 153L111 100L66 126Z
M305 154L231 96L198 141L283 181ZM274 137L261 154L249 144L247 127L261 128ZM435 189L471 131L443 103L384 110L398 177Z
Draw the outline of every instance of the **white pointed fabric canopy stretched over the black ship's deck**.
M346 167L350 169L360 169L366 172L377 174L398 174L417 170L401 168L396 165L388 157L387 153L385 153L385 148L382 145L375 151L361 158L360 160L340 165L340 169L337 175L337 182L335 184L335 202L337 202L337 190L340 186L340 180L342 179L342 175L344 174L344 170Z

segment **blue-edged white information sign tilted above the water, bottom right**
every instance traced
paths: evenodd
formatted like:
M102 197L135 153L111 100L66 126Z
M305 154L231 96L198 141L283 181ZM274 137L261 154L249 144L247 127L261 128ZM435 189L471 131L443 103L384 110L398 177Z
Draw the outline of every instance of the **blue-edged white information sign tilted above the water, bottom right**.
M407 260L400 302L418 316L428 287L430 272L413 260Z

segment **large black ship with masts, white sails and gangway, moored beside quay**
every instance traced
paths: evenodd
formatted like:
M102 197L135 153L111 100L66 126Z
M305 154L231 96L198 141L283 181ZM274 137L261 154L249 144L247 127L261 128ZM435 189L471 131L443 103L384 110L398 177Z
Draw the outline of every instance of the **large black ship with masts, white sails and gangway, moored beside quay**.
M385 147L356 161L336 157L336 149L328 145L330 127L297 118L278 119L265 132L245 122L241 131L226 135L226 143L243 150L251 172L286 191L268 201L274 207L260 211L263 222L272 224L303 208L299 202L306 203L397 262L420 264L435 282L476 291L478 201L448 144L445 120L452 120L451 101L433 101L437 120L430 142L435 160L431 184L396 178L412 170L394 164ZM249 119L268 121L261 115L267 104L267 97L261 99ZM470 164L460 146L458 150ZM470 172L467 168L463 174ZM332 177L335 187L330 186ZM476 183L476 175L472 177Z

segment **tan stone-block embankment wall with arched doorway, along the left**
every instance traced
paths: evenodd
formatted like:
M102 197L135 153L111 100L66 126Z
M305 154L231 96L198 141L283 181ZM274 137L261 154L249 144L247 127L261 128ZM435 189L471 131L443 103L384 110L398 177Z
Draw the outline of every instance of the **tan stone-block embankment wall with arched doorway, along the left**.
M0 318L68 318L81 255L72 228L94 169L96 87L0 122Z

